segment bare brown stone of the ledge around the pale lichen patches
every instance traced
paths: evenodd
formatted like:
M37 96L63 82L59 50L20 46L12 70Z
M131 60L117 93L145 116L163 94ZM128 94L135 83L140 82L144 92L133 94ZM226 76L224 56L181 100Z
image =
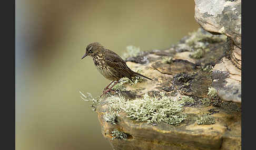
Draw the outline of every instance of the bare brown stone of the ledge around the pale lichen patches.
M199 29L196 34L202 36L202 32L203 30ZM182 39L181 43L188 44L185 40L190 38L191 36ZM229 59L222 58L221 53L223 54L225 44L223 40L204 41L204 45L201 45L204 47L202 57L191 58L188 52L193 52L192 49L195 49L197 42L199 41L195 40L188 46L190 51L176 50L179 46L174 46L167 50L153 50L144 54L143 57L149 60L147 63L126 62L132 70L141 69L143 75L153 79L142 80L132 85L124 84L125 89L121 90L120 94L124 95L126 100L143 98L145 92L150 97L161 97L160 93L163 92L166 97L175 101L181 101L184 95L189 95L195 102L182 107L182 114L186 118L178 125L135 121L123 111L116 115L113 123L105 120L106 114L113 113L110 112L106 96L97 106L96 112L102 126L102 134L110 141L113 149L241 149L241 108L232 102L239 101L235 97L239 97L241 90L236 86L239 84L232 84L231 87L228 84L231 83L230 80L232 83L241 81L240 71L237 67L229 66L232 65ZM209 55L214 52L218 55L212 55L210 58ZM206 66L210 66L210 69L206 69ZM209 105L203 105L201 100L208 98L209 87L215 87L222 99L231 101L221 101L216 106L213 104L215 100L210 99ZM196 121L205 114L213 116L215 123L197 124ZM126 138L113 137L113 131L124 133L126 136L123 137Z

